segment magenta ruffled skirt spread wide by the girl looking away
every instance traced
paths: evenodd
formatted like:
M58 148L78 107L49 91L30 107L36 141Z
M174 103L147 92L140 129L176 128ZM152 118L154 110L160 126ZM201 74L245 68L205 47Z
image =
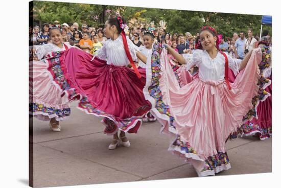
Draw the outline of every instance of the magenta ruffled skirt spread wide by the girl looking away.
M151 109L143 94L145 73L140 72L143 77L139 79L127 66L92 58L75 48L46 56L48 71L59 88L57 94L68 102L80 100L78 108L88 114L105 117L106 134L119 129L136 133Z

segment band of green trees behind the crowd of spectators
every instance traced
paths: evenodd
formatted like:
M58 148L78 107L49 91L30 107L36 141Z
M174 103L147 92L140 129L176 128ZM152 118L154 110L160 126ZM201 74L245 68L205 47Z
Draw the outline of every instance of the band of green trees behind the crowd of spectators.
M60 2L34 1L34 19L41 23L55 20L67 23L87 23L94 27L102 26L110 16L120 13L129 22L129 26L148 26L154 21L159 27L159 21L166 21L166 30L170 33L191 32L195 35L202 26L214 27L218 33L232 37L233 32L253 29L254 35L260 34L261 15L229 14L218 12L200 12L171 9L154 9L126 6L90 5ZM264 26L271 33L271 27Z

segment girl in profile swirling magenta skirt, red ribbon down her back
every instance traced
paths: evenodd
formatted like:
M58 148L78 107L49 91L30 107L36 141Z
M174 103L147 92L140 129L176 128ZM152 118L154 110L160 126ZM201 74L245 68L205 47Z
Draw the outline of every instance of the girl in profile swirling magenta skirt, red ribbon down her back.
M134 61L147 58L125 35L123 18L109 18L105 22L105 41L96 56L81 50L69 49L49 54L49 72L68 101L80 100L78 108L96 116L105 117L105 133L113 139L109 149L115 149L120 140L123 146L130 142L125 132L136 133L142 117L150 110L143 88L146 77L139 73ZM133 69L127 67L131 64Z

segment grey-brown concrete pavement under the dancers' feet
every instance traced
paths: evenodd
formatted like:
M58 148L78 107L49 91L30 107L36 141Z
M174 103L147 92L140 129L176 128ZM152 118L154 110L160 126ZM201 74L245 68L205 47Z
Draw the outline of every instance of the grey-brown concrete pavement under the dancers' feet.
M101 118L76 104L71 117L61 122L61 132L33 119L34 187L197 177L190 164L167 151L170 140L159 134L158 122L127 134L130 148L108 150L112 136L103 133ZM271 172L271 139L238 138L226 146L231 169L218 176Z

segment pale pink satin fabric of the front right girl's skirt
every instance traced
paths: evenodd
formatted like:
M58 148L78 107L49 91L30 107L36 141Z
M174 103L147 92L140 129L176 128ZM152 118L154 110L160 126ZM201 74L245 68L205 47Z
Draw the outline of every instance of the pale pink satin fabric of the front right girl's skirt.
M227 137L242 125L243 116L252 108L251 100L259 90L257 62L261 62L261 50L253 52L247 66L230 84L231 90L225 81L197 78L189 82L188 74L185 74L188 84L180 88L168 58L161 57L160 90L163 102L170 106L175 117L181 139L189 142L202 159L216 155L217 151L225 152ZM167 125L165 120L161 122Z

